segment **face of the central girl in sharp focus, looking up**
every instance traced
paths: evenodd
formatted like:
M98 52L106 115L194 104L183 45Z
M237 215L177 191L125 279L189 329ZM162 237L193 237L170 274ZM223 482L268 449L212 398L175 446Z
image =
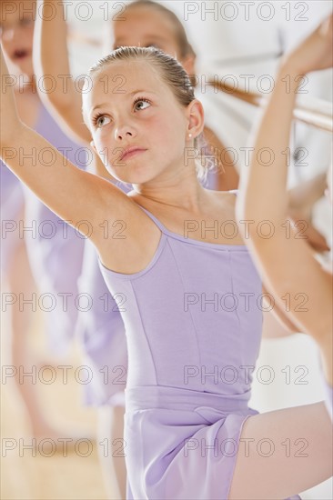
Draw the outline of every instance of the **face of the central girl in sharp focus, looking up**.
M97 153L117 179L142 185L177 178L184 169L188 125L196 123L146 61L116 62L84 93ZM199 120L200 121L200 120ZM188 165L185 167L188 170Z

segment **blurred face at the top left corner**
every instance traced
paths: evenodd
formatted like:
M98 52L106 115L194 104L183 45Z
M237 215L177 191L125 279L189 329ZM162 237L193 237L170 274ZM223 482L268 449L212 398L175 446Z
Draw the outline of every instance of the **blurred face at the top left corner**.
M35 2L0 0L0 37L9 71L14 75L34 74L33 39Z

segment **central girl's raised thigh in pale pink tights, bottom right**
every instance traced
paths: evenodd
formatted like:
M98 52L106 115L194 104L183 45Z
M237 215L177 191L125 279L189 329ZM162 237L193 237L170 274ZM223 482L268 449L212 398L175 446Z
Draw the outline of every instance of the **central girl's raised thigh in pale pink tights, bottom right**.
M332 423L323 403L247 418L228 500L284 499L332 475Z

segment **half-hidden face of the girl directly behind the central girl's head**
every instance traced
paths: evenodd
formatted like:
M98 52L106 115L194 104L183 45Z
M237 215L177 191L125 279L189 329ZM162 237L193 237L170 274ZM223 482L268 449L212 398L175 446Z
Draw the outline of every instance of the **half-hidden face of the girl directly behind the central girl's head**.
M160 12L145 6L137 6L121 15L124 20L113 23L113 49L120 46L155 46L172 55L194 75L194 58L180 58L180 50L173 23Z

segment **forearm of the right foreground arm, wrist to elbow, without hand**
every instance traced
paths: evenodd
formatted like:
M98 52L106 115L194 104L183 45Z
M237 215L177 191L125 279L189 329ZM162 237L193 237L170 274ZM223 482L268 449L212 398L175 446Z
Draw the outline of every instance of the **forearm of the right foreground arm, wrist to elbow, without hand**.
M275 89L256 133L250 165L241 179L239 218L273 224L288 214L289 137L300 75L288 62L281 65Z

